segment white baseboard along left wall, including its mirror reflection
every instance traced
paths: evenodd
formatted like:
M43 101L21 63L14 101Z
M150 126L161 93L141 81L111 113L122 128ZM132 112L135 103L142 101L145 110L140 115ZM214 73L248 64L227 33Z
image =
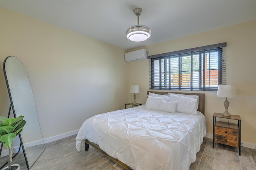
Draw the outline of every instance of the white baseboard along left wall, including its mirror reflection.
M59 139L63 139L65 137L70 137L72 135L76 135L78 133L78 131L79 130L75 130L75 131L71 131L71 132L68 132L68 133L63 133L61 135L57 135L57 136L54 136L54 137L46 138L46 139L44 139L44 143L50 143L50 142L53 142L53 141L57 141ZM24 147L27 148L27 147L31 147L31 146L35 146L35 145L40 145L40 144L42 144L42 141L35 141L35 142L24 144ZM18 147L13 147L12 152L13 153L18 152L19 147L20 147L20 144L19 144ZM3 149L5 149L5 150L2 150L1 157L7 156L9 154L8 149L6 149L5 147L3 147ZM22 148L20 150L22 150Z

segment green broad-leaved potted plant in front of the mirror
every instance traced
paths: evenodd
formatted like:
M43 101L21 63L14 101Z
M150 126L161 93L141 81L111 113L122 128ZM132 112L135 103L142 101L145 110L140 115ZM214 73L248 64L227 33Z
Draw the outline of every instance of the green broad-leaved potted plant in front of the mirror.
M24 116L20 115L17 118L6 118L0 116L0 143L3 143L7 149L9 149L9 160L8 166L3 170L19 170L20 166L18 164L12 165L12 142L16 136L20 134L26 121L23 120ZM16 167L16 168L14 168Z

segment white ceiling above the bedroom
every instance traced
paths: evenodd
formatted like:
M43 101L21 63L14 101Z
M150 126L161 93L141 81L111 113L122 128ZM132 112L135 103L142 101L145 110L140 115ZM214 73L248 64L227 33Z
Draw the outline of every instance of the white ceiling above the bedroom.
M256 0L0 0L0 6L122 49L256 20ZM137 7L140 24L151 29L143 42L126 39Z

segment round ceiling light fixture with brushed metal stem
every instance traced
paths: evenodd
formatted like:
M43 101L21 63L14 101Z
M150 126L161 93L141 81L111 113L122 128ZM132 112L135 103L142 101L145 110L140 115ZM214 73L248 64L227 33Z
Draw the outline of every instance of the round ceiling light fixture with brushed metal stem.
M140 25L139 23L139 16L142 12L141 8L135 8L133 12L138 17L138 25L129 27L126 30L126 37L131 41L136 41L136 42L145 41L151 35L150 28L145 25Z

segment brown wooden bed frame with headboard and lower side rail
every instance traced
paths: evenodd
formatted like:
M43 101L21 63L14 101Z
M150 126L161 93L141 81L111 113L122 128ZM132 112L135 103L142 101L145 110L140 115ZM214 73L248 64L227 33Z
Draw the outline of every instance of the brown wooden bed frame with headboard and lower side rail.
M155 94L168 94L168 92L154 92L154 91L148 91L148 94L149 94L149 92L155 93ZM198 111L200 111L201 113L204 114L204 93L182 93L182 92L170 92L170 93L186 94L186 95L197 95L197 96L199 96ZM99 145L97 145L97 144L95 144L93 142L90 142L87 139L84 140L84 143L85 143L85 147L84 147L85 151L89 150L89 146L91 145L96 150L98 150L99 152L101 152L106 157L110 158L111 160L113 160L114 162L116 162L117 164L119 164L120 166L125 168L126 170L132 170L132 168L130 166L128 166L125 163L121 162L117 158L113 158L112 156L110 156L106 152L104 152L104 150L100 149Z

